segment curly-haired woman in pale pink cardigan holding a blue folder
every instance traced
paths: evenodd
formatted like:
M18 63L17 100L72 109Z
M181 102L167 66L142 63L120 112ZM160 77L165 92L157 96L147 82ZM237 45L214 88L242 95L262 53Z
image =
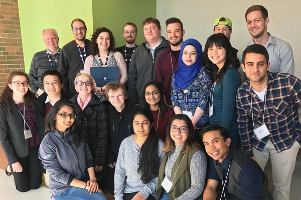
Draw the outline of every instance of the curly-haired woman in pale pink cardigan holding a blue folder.
M91 38L91 54L86 58L84 72L90 75L90 67L119 67L120 82L127 82L127 68L122 54L115 50L115 38L111 30L106 27L97 28ZM101 101L105 96L106 85L97 87L97 96Z

